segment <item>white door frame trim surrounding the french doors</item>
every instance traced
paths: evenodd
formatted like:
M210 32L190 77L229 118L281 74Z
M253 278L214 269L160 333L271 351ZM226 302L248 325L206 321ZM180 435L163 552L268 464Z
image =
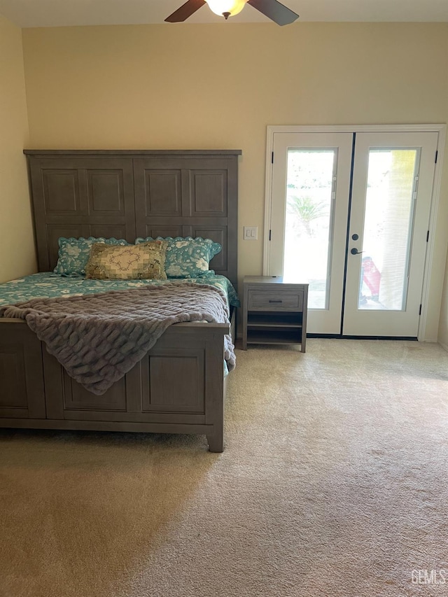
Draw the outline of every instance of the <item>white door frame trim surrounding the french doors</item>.
M330 125L330 126L271 126L267 127L266 141L266 184L265 184L265 234L263 241L263 275L269 272L269 230L271 226L272 209L272 152L274 150L275 133L313 133L313 132L437 132L437 163L435 164L433 197L431 199L429 240L426 251L425 272L423 274L423 289L421 297L421 317L418 339L423 340L426 332L426 318L428 315L428 297L430 283L430 268L433 262L435 241L435 226L440 202L440 186L442 184L442 163L445 146L446 125Z

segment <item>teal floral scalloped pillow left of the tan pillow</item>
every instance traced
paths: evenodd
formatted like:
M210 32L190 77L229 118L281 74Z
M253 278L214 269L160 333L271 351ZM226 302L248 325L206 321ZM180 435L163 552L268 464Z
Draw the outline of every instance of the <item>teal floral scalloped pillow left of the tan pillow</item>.
M128 245L125 239L105 239L103 237L89 237L84 239L65 239L61 237L59 243L59 259L53 272L59 276L85 276L85 266L90 258L90 249L94 243L111 245Z

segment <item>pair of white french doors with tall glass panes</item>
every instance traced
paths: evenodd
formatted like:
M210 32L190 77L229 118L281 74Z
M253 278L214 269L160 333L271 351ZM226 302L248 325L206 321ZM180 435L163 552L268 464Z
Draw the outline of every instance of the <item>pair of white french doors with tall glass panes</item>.
M417 337L437 136L274 133L265 274L309 283L309 332Z

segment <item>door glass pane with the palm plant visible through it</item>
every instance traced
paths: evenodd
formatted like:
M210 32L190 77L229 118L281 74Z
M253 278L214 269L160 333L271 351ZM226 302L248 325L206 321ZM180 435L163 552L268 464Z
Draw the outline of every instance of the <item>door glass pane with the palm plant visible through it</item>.
M309 283L309 309L328 309L335 149L288 150L283 279Z

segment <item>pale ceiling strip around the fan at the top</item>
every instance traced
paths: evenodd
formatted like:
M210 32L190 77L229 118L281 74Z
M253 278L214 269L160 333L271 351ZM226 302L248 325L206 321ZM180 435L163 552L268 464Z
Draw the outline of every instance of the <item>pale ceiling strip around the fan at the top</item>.
M0 0L0 14L20 27L162 23L185 0ZM298 22L448 22L448 0L283 0L300 15ZM185 24L218 23L207 6ZM246 6L230 23L271 22Z

